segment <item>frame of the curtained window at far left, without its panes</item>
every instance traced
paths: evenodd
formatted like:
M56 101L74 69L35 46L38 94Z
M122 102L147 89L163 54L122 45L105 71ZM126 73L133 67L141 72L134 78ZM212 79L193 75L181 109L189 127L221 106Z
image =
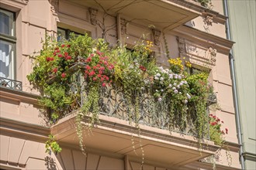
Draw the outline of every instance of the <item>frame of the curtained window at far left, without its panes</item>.
M12 77L5 77L10 80L16 80L16 44L17 44L17 38L16 38L16 12L10 11L5 8L0 8L3 11L11 12L13 16L13 36L4 34L0 32L0 40L4 42L9 42L13 44L13 61L12 61Z

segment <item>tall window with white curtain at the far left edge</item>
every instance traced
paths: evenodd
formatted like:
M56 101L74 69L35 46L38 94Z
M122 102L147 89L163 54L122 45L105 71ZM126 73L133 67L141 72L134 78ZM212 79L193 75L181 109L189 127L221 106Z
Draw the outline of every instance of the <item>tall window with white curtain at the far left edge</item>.
M15 78L15 14L0 8L0 76Z

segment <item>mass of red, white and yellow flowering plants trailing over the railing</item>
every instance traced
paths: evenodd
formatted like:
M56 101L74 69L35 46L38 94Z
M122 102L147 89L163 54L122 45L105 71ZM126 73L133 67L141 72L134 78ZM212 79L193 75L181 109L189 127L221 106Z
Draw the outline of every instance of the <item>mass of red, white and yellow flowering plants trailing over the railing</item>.
M213 93L208 73L189 75L184 70L189 64L181 59L169 59L169 68L157 66L148 59L151 46L152 42L142 40L130 51L125 46L110 48L103 39L88 35L71 35L63 42L47 37L27 77L42 94L40 104L52 110L51 123L79 110L76 124L82 151L85 118L89 117L91 128L99 123L101 92L110 87L122 90L130 123L141 121L140 97L146 93L150 113L164 114L161 128L204 138L209 124L207 98Z

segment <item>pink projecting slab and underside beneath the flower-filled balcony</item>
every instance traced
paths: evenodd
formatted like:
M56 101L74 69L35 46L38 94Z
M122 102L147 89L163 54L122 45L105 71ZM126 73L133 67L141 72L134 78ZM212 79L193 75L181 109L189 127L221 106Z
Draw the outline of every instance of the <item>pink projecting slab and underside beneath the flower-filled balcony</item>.
M64 117L51 128L51 133L57 141L78 146L75 131L77 114L78 112L74 112ZM192 136L175 132L170 134L170 131L151 128L147 125L140 125L139 138L138 129L131 126L128 121L106 115L99 115L99 120L100 123L92 128L92 134L85 129L86 151L97 150L113 155L128 155L133 161L140 162L142 147L145 162L173 168L213 155L214 151L219 148L213 145L212 141L207 141L207 145L202 144L200 152L199 143Z

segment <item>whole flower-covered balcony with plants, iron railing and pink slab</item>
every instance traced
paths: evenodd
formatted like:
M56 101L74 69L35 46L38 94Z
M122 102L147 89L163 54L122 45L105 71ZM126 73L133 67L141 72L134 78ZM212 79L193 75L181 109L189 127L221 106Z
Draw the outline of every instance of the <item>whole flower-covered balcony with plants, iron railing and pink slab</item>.
M47 42L28 79L43 92L40 104L51 108L50 133L61 145L78 148L82 137L85 151L166 168L220 148L203 118L207 75L185 76L181 59L170 59L170 69L156 66L147 58L150 43L131 52L87 35Z

